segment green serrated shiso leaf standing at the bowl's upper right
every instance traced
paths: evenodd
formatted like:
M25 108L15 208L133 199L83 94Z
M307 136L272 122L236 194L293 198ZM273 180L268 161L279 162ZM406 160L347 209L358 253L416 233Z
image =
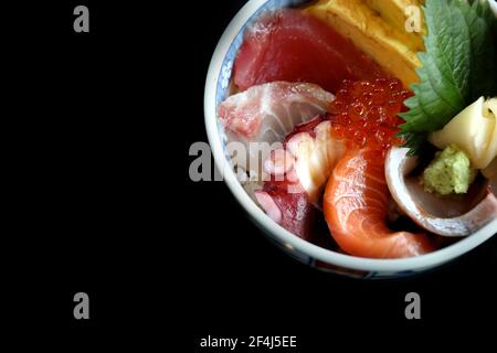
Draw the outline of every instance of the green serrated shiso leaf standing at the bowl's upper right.
M480 96L497 93L496 19L487 1L427 0L424 9L426 52L400 137L410 154L417 154L429 132L442 129Z

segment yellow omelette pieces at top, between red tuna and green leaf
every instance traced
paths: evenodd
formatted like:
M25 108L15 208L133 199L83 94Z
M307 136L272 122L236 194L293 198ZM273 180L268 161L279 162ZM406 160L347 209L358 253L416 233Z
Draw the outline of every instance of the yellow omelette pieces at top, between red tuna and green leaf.
M417 1L402 2L320 0L305 11L349 39L359 50L400 78L405 87L410 87L419 82L415 69L421 66L421 62L416 53L424 52L423 34L426 31L423 21L408 21L404 12L413 11L414 7L421 10ZM395 13L396 19L393 19ZM406 31L406 26L413 24L417 28Z

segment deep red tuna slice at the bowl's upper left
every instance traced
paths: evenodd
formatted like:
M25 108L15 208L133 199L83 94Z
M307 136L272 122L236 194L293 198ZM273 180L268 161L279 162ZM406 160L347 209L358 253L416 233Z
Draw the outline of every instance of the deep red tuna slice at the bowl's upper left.
M320 20L284 9L248 29L234 63L242 89L274 82L308 82L336 93L343 79L388 76L370 57Z

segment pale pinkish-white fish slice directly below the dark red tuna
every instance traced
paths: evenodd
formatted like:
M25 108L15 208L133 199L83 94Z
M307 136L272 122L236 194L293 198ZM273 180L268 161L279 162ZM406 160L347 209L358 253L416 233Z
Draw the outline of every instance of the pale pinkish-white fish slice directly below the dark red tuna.
M239 139L273 143L326 111L334 98L313 84L268 83L229 97L219 106L219 119Z

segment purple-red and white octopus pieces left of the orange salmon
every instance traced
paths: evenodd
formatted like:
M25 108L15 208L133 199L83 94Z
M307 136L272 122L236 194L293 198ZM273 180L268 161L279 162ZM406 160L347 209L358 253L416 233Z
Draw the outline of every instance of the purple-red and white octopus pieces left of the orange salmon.
M287 231L311 238L311 223L319 197L343 142L331 136L331 122L322 116L299 125L287 137L284 149L272 151L264 167L271 180L255 197L266 214Z

